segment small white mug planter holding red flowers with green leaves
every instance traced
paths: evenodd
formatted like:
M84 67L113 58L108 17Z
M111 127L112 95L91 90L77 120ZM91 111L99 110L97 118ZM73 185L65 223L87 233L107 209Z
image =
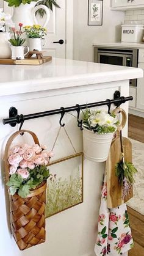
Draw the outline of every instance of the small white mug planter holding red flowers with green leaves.
M15 27L12 27L13 38L9 39L9 42L12 45L12 59L24 59L24 56L29 52L29 47L23 46L26 39L21 37L21 34L23 34L23 32L21 31L21 27L23 27L23 24L19 23L19 27L19 31L16 31ZM25 48L26 53L24 53Z

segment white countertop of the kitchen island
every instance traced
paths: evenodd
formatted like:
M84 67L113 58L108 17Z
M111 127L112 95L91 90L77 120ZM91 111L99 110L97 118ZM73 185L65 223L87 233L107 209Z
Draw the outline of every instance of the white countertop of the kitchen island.
M140 68L53 58L40 66L0 65L0 96L143 77Z

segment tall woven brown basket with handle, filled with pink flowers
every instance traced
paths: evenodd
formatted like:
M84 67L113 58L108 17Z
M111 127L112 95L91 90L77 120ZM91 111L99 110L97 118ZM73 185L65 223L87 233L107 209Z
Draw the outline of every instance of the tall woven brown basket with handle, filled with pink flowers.
M11 147L20 133L29 133L34 145ZM5 180L10 195L10 223L20 250L45 242L46 180L52 152L40 146L32 131L16 131L5 147Z

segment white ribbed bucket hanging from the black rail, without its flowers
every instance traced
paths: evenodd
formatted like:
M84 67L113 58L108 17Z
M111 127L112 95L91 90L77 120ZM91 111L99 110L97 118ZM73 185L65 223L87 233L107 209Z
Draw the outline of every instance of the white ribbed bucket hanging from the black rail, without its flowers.
M98 134L86 128L82 133L85 158L93 162L106 161L114 133Z

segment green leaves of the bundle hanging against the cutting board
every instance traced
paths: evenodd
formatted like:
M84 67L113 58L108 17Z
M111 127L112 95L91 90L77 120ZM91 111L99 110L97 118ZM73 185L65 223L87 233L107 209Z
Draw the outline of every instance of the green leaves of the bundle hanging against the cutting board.
M132 185L135 182L133 175L136 172L137 169L135 169L132 163L123 163L123 160L121 160L120 163L115 165L115 175L118 177L118 181L121 185L123 185L124 177L126 177L126 180Z

